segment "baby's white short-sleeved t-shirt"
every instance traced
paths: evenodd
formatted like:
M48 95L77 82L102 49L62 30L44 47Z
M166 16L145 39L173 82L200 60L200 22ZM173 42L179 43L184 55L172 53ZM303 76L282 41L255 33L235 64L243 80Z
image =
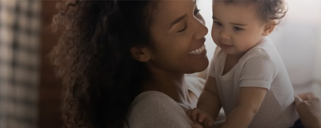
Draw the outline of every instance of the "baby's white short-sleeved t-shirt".
M293 87L273 42L265 37L246 52L229 72L222 75L226 56L226 53L216 47L208 74L216 79L227 117L237 105L240 87L261 87L268 92L248 128L293 126L299 119L293 104Z

